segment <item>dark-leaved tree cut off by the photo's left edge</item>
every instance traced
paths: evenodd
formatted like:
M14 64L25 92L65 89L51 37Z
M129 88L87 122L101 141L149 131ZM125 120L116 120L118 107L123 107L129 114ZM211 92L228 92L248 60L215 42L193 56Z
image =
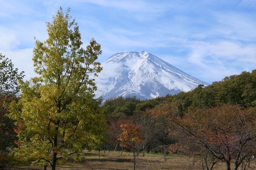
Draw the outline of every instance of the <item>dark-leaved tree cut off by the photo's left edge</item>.
M0 53L0 164L6 164L6 147L15 147L16 132L15 125L11 119L6 117L8 109L6 105L12 100L17 100L19 93L18 79L24 77L23 71L18 73L14 69L12 61Z

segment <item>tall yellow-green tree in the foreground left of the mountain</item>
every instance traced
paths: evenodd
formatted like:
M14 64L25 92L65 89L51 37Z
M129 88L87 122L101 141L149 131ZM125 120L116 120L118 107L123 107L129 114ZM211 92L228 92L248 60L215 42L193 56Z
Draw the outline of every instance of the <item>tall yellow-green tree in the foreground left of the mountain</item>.
M102 50L94 39L86 49L81 47L81 34L69 12L60 8L46 24L48 39L36 40L33 61L39 77L20 81L21 98L12 102L9 115L22 125L16 157L45 169L50 164L52 170L68 156L80 160L84 144L106 131L101 100L93 98L93 76L102 71L96 59Z

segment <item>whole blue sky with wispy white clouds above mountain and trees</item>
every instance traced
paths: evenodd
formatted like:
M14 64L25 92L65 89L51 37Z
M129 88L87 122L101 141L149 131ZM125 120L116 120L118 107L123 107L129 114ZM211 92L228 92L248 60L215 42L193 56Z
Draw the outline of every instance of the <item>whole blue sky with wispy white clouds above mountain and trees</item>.
M34 77L34 37L60 6L76 19L98 61L147 51L207 83L256 69L256 0L0 0L0 53ZM104 71L104 70L103 70Z

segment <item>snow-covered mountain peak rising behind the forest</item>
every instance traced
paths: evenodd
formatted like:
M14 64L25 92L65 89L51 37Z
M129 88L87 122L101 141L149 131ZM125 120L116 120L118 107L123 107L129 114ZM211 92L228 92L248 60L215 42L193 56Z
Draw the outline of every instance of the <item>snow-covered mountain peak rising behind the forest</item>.
M95 81L95 94L103 101L119 96L152 99L187 92L199 84L208 85L146 51L117 53L102 66Z

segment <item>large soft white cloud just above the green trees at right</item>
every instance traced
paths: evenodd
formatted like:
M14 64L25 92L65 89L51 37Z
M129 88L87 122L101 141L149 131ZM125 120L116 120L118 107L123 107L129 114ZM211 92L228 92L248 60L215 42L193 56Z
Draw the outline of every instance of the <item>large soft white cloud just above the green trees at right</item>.
M256 65L256 45L238 42L198 43L192 46L188 61L194 71L203 72L203 79L220 81L225 76L252 71Z

